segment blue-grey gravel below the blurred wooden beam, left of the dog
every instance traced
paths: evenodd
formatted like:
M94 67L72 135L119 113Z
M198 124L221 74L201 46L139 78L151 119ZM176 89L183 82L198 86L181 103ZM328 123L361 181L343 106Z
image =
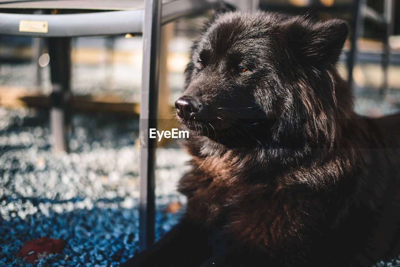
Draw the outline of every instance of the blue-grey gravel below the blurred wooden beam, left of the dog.
M66 247L38 266L118 266L137 251L137 120L76 114L73 125L72 152L54 155L46 112L0 108L0 266L25 266L14 256L41 236ZM157 151L157 237L182 213L164 208L185 202L175 185L187 159Z

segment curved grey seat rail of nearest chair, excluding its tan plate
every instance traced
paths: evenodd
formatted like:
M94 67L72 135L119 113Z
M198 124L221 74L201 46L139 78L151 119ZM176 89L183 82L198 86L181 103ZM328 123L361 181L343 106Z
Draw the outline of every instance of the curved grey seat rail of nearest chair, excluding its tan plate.
M168 2L162 5L160 22L166 24L184 16L202 13L218 2L218 0ZM46 38L140 34L143 30L144 12L140 9L58 15L0 13L0 34ZM20 20L47 21L48 32L20 32L18 30Z

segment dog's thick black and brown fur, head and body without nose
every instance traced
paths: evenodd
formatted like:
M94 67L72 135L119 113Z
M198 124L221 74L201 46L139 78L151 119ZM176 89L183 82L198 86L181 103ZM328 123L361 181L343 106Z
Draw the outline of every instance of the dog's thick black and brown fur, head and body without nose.
M206 26L184 92L202 110L180 118L186 214L126 265L362 266L399 252L400 116L353 111L335 66L347 35L341 20L261 11Z

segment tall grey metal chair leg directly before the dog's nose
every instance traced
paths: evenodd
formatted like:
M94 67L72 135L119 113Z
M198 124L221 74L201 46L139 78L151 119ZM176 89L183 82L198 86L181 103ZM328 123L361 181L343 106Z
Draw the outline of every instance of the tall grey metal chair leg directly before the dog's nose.
M139 248L141 251L154 242L156 139L149 138L149 129L157 126L161 10L161 0L146 0L140 100Z

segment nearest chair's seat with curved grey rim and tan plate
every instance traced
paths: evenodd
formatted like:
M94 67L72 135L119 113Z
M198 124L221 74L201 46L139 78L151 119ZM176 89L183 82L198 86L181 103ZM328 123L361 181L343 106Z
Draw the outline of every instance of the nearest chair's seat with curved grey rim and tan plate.
M218 0L163 0L162 23L204 12L217 2ZM25 10L35 9L88 12L54 15L22 14L26 13ZM140 34L143 26L144 0L0 0L0 10L4 12L0 13L0 34L32 37ZM90 10L103 12L89 12Z

